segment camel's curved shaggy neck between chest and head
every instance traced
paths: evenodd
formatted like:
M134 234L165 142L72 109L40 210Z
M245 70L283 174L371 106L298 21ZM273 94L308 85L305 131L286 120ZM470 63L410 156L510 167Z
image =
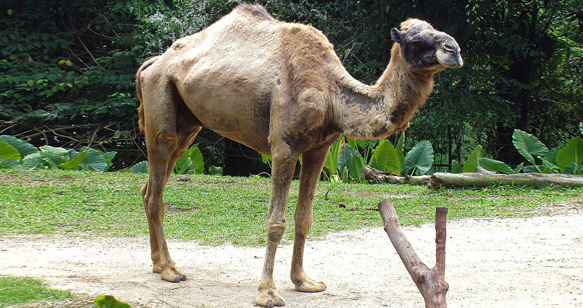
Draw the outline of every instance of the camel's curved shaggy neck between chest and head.
M393 48L391 62L373 86L339 83L334 115L340 131L358 139L382 139L409 127L433 90L434 73L413 72Z

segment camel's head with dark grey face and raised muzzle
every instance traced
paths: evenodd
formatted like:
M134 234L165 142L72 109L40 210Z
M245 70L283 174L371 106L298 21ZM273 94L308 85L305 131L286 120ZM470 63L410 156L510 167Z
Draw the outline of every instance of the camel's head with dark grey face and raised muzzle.
M406 20L401 30L391 30L391 39L399 43L403 59L413 70L438 71L463 65L458 42L423 20Z

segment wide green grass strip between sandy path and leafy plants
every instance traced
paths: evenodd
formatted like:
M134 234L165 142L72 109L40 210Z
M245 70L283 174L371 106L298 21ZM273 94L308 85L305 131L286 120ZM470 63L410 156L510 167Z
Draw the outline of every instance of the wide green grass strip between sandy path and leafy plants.
M0 171L0 236L145 236L140 189L144 174L82 171ZM164 192L168 238L201 244L264 245L271 181L264 178L172 176ZM291 184L285 241L293 238L298 182ZM326 194L326 192L328 192ZM375 210L390 198L403 225L448 219L529 217L581 207L583 188L490 186L432 190L425 186L318 183L311 238L337 230L381 226Z

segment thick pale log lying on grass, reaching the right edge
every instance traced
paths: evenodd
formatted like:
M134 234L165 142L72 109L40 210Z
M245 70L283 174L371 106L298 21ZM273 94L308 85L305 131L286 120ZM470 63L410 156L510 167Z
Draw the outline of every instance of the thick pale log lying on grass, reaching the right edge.
M485 174L468 172L463 174L449 174L436 172L430 176L429 187L454 186L487 186L490 184L507 183L519 186L547 186L560 185L583 187L583 176L568 174Z

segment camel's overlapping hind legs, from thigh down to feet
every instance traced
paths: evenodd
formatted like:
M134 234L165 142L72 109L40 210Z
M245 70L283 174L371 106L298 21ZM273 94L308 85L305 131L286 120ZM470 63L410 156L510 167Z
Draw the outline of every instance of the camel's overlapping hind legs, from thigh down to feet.
M178 270L168 253L164 235L164 200L166 182L178 158L201 130L200 122L182 102L174 86L147 84L143 88L143 123L149 174L142 187L142 197L148 228L153 272L159 272L166 281L179 282L186 275Z

